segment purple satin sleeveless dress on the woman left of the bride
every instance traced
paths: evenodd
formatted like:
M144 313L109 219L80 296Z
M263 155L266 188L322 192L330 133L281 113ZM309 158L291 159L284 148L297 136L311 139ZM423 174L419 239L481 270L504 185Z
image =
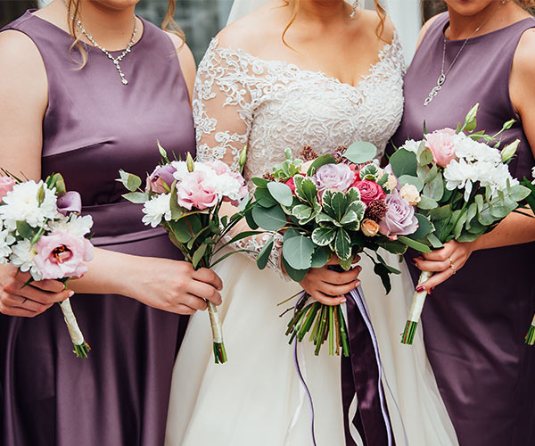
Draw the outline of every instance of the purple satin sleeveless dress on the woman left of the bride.
M4 29L29 36L45 62L42 176L61 172L70 190L82 195L83 213L95 219L92 242L180 260L160 228L144 227L141 207L124 201L115 181L119 169L143 177L160 161L157 138L177 155L195 148L174 45L161 29L143 24L143 36L121 62L128 86L93 46L87 46L86 67L74 70L70 35L31 12ZM0 444L163 444L171 373L187 319L119 295L75 294L71 301L93 349L85 360L71 352L57 306L36 318L0 316Z

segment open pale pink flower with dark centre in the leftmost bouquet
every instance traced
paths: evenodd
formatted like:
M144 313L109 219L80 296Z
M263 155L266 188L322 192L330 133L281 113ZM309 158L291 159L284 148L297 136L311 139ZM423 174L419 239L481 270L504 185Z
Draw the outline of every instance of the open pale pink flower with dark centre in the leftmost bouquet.
M36 250L34 261L44 279L82 277L87 272L84 262L93 260L93 245L65 230L43 235Z

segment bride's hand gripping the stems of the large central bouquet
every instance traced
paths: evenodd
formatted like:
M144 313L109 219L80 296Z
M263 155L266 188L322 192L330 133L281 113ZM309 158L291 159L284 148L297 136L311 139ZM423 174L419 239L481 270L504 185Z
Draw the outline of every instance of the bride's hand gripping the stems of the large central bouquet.
M357 256L355 261L357 262L358 260L360 258ZM358 275L362 268L356 267L342 273L328 268L329 265L339 264L338 259L334 256L325 267L310 268L300 285L320 303L331 306L345 303L344 294L350 293L360 285Z

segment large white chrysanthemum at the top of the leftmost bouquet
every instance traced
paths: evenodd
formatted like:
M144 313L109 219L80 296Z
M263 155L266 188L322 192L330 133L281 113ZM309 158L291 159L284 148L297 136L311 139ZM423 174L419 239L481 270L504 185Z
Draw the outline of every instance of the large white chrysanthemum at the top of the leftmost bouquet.
M37 194L43 186L45 198L39 205ZM40 227L46 219L56 219L59 212L56 206L55 191L46 187L43 181L36 183L33 180L15 185L3 199L0 206L0 219L9 230L16 228L17 221L26 221L31 227Z

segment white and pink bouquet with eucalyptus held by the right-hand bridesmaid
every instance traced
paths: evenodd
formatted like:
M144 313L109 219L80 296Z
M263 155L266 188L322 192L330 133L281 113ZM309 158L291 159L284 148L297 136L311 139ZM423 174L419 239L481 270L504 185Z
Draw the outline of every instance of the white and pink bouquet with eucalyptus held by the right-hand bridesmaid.
M506 122L493 136L475 132L478 109L479 104L457 129L424 131L422 141L409 140L391 156L394 173L410 177L422 191L418 209L429 219L432 230L419 242L434 249L451 240L473 242L517 211L519 203L531 194L511 177L507 166L519 141L498 150L498 136L514 121ZM450 268L455 274L455 266ZM430 277L431 272L422 272L418 284ZM413 343L426 296L426 290L414 294L401 343Z

